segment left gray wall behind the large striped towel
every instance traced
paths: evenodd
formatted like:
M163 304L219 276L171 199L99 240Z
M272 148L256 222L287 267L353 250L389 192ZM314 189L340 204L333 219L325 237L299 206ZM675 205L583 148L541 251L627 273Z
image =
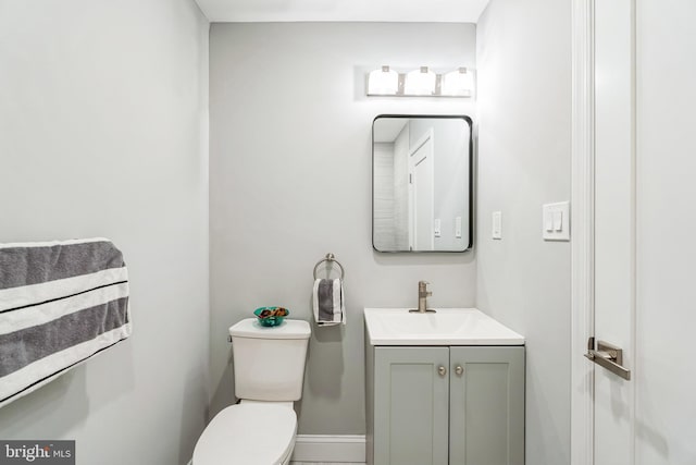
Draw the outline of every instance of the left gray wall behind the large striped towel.
M0 242L107 236L133 336L0 409L82 465L184 464L208 405L208 22L189 0L0 2Z

